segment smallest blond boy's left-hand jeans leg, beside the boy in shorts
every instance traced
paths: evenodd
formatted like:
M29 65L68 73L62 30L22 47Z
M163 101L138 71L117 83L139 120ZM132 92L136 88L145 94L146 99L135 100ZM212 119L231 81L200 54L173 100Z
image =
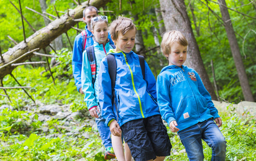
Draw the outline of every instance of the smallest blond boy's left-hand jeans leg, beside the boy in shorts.
M178 133L190 161L204 160L202 133L198 124L194 124Z

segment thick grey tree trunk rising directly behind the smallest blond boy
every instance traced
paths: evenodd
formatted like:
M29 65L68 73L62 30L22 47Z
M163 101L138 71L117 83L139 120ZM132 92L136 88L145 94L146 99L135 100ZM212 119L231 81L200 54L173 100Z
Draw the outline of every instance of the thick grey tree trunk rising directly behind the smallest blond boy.
M198 72L212 99L217 100L213 85L204 67L196 38L194 38L184 0L160 0L160 6L166 30L178 30L188 40L188 54L185 65L192 67Z

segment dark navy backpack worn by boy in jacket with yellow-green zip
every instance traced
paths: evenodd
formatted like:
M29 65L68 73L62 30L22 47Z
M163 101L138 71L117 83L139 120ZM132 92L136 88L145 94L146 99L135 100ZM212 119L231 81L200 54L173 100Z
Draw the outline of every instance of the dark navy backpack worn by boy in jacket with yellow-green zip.
M144 56L137 55L139 57L140 61L140 68L142 71L142 76L143 79L145 80L145 58ZM107 54L107 66L109 68L109 77L111 79L111 90L112 90L112 105L116 106L116 114L117 114L117 122L118 122L118 111L117 111L117 105L116 105L116 100L115 100L115 90L114 87L116 85L116 59L113 54Z

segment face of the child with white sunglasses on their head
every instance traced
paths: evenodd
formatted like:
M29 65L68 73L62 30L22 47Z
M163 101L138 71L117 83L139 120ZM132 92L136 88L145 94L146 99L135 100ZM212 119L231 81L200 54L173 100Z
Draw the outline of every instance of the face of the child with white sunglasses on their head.
M108 35L106 22L96 22L91 33L99 44L106 43Z

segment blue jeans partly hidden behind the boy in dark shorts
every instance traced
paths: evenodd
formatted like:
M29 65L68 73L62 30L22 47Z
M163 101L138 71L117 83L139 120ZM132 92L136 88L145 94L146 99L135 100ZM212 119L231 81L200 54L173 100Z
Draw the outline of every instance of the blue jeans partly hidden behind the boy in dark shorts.
M99 107L98 109L101 110ZM103 145L107 149L108 147L112 147L111 131L109 127L105 125L106 120L101 116L101 111L98 113L98 116L99 118L95 118L95 122L97 124L99 135L101 136L101 141L103 141Z

